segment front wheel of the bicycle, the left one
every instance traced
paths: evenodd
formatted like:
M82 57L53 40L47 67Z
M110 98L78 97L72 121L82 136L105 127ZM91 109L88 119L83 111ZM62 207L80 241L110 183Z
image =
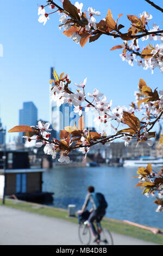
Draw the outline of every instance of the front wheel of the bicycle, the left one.
M91 232L87 224L80 223L79 224L79 239L82 245L89 245L91 241Z

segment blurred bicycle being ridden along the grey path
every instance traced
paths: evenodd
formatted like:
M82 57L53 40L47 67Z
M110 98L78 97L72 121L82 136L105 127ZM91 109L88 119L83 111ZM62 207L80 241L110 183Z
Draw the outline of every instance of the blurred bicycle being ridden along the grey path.
M97 232L100 235L100 240L96 242L98 245L114 245L112 235L110 231L106 228L102 228L102 226L99 228L99 225L101 226L101 223L98 223L97 226ZM91 242L91 228L88 221L82 221L79 223L79 229L78 229L78 235L79 240L82 243L82 245L90 245Z

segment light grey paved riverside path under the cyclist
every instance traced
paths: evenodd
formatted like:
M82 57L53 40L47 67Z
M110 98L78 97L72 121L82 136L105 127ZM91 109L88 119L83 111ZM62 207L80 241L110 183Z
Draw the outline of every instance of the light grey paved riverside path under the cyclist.
M154 245L112 233L115 245ZM78 225L0 205L0 245L79 245Z

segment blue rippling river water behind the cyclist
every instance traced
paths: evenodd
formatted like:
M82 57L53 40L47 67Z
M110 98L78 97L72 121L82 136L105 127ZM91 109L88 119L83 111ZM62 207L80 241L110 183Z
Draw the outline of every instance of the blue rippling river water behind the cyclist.
M68 204L82 208L86 189L92 185L102 192L109 206L106 217L128 220L151 227L163 228L163 213L155 212L155 198L142 195L134 187L139 179L137 168L124 167L66 167L55 166L43 173L43 191L54 192L53 206L67 209Z

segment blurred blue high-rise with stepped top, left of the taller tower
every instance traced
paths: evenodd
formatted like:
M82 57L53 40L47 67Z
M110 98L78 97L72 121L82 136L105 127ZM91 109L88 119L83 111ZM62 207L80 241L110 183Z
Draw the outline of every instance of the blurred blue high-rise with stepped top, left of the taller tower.
M37 108L32 101L23 102L23 108L19 111L19 125L37 125Z

